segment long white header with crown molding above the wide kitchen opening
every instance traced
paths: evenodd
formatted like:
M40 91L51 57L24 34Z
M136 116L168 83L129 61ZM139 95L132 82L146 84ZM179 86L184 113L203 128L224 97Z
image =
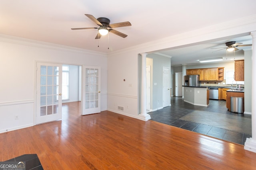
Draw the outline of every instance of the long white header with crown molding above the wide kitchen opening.
M108 56L120 54L124 52L139 53L156 53L162 49L177 48L193 43L200 43L203 41L210 41L213 39L221 39L223 37L234 35L250 35L251 31L256 31L256 14L237 18L234 20L209 25L200 29L192 30L189 32L165 37L155 41L150 41L140 45L135 45L118 51L107 53Z

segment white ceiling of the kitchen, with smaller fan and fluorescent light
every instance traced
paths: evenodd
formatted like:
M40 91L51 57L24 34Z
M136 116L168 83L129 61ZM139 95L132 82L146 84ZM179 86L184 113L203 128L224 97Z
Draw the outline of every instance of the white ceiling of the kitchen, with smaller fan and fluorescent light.
M224 39L221 41L214 41L210 43L202 43L200 45L190 45L188 47L181 47L177 49L167 50L158 52L160 55L170 56L172 66L179 66L181 64L200 64L198 60L204 59L214 59L214 58L222 58L223 61L220 62L230 62L234 60L244 59L244 51L251 50L252 47L237 47L239 50L228 52L226 49L221 47L227 47L225 45L226 42L236 41L237 43L242 43L241 45L252 44L252 36L246 35L242 37L235 37ZM212 49L212 48L220 48L220 49ZM214 62L212 62L214 63ZM205 63L202 63L205 64Z

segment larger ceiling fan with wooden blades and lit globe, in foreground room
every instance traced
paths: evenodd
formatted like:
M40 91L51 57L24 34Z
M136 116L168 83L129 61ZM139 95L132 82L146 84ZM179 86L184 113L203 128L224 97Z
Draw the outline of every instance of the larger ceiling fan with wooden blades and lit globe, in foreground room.
M72 30L77 30L77 29L98 29L98 34L96 35L95 39L100 39L100 37L102 35L106 35L109 32L114 33L114 34L116 34L116 35L118 35L120 37L125 38L125 37L127 37L126 34L121 33L119 31L116 31L116 30L114 30L112 28L132 26L132 24L129 21L110 24L110 20L108 18L100 17L100 18L96 19L94 16L92 16L90 14L84 14L84 15L86 15L88 18L90 18L90 20L94 21L94 23L96 23L100 27L99 28L97 28L97 27L71 28L71 29ZM110 28L110 29L108 29L108 28Z

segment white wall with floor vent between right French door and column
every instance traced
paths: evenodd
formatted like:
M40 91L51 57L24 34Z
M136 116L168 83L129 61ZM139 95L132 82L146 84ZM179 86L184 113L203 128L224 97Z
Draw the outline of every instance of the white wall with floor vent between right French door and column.
M108 56L108 110L138 118L138 53Z

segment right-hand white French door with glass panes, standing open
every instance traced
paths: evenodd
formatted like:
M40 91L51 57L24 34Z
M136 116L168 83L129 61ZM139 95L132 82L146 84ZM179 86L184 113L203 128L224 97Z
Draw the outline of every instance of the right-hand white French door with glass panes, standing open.
M100 113L100 67L83 67L82 115Z

